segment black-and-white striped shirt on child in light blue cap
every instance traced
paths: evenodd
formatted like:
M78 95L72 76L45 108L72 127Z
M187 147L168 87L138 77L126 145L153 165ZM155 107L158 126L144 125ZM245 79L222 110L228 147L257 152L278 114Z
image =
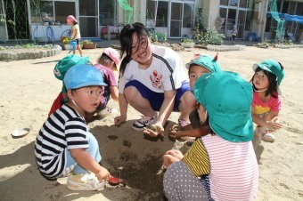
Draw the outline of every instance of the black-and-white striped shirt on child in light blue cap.
M75 109L63 105L48 117L39 131L35 155L40 172L47 178L56 178L65 168L67 149L87 149L86 121Z

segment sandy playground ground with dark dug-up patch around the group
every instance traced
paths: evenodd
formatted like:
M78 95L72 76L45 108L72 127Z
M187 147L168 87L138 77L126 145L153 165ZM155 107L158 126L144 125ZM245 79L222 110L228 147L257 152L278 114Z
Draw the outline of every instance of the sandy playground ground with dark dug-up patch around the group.
M85 50L91 61L102 49ZM184 64L193 52L216 52L194 49L179 52ZM102 191L70 191L66 179L47 181L37 170L34 142L52 102L61 90L61 82L53 76L53 67L67 52L51 58L0 62L0 200L164 200L160 156L174 145L168 139L168 127L176 123L173 113L163 139L150 139L131 130L130 125L140 117L128 109L127 124L113 125L113 117L96 119L89 124L99 141L102 165L128 181L128 187L107 188ZM258 201L303 199L303 48L261 49L247 47L245 51L219 52L218 61L226 70L241 74L247 80L253 75L251 66L268 58L285 67L282 82L283 109L280 117L283 129L276 133L274 143L256 146L259 164ZM119 108L117 102L110 106ZM11 133L20 127L31 129L27 136L13 139ZM117 168L123 167L122 171Z

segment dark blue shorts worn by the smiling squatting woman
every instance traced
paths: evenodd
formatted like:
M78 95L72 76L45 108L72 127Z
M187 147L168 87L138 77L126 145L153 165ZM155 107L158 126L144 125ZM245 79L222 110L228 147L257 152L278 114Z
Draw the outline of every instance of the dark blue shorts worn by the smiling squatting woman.
M164 101L164 92L153 92L148 87L146 87L144 84L140 83L137 80L129 81L126 85L127 86L135 86L135 88L141 93L144 99L147 99L150 101L151 108L155 111L160 111L161 105ZM181 88L176 90L176 101L174 105L173 111L178 112L180 99L183 96L184 92L192 91L191 86L189 82L184 82L181 86Z

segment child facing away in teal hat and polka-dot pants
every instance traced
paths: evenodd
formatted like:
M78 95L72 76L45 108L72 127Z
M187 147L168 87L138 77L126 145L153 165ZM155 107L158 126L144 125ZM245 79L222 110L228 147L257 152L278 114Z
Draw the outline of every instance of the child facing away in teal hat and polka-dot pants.
M194 141L164 174L168 200L254 200L258 163L251 143L252 89L233 72L201 76L193 88L199 117L212 132ZM200 178L201 177L201 178ZM201 185L201 181L202 184Z

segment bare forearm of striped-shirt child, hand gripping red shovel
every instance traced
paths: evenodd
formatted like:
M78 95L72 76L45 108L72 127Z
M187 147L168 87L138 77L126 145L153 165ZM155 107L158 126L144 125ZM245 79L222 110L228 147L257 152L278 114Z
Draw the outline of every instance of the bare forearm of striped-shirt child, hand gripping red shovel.
M111 173L99 165L85 149L70 149L70 155L75 159L78 165L94 173L99 181L109 180L111 177Z

